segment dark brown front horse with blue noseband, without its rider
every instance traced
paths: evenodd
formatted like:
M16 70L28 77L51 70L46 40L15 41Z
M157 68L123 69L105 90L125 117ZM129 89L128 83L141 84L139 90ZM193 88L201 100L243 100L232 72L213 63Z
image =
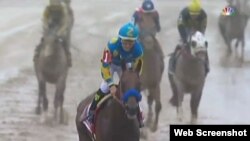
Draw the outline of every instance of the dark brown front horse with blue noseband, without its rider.
M99 102L92 130L86 123L86 113L94 94L80 102L75 118L79 141L139 141L137 114L141 100L141 65L139 63L135 69L126 69L126 65L122 65L116 97L111 98L108 94L101 100L103 102Z

